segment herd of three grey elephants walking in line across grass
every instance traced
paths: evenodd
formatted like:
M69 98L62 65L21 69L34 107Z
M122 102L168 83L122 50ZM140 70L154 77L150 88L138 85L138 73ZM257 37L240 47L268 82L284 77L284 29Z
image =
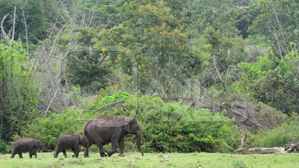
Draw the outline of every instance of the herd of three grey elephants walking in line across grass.
M57 158L60 152L63 152L63 155L67 157L65 153L66 149L71 149L74 152L73 156L78 158L80 145L85 147L84 157L89 157L89 147L92 144L97 144L101 157L106 157L107 155L110 157L116 152L117 146L119 146L119 156L124 156L124 136L128 133L136 135L137 147L143 156L141 149L141 129L137 120L131 117L103 115L88 120L85 124L83 135L72 133L60 135L55 141L56 151L54 158ZM103 145L106 143L111 143L112 146L112 150L107 151L107 154L105 154L103 149ZM52 150L45 149L39 140L21 138L13 144L13 151L10 158L14 158L16 154L20 158L23 158L22 152L29 152L30 158L33 155L36 158L35 148L41 149L44 152L53 152Z

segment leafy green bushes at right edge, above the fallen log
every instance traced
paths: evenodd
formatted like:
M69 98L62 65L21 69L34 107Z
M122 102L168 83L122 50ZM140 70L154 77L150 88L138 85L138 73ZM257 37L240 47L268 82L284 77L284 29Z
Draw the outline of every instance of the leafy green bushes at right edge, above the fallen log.
M298 70L294 69L299 63L298 58L298 52L293 50L284 59L259 56L257 62L241 63L239 66L245 74L237 89L285 114L298 112ZM272 69L275 64L277 67Z

